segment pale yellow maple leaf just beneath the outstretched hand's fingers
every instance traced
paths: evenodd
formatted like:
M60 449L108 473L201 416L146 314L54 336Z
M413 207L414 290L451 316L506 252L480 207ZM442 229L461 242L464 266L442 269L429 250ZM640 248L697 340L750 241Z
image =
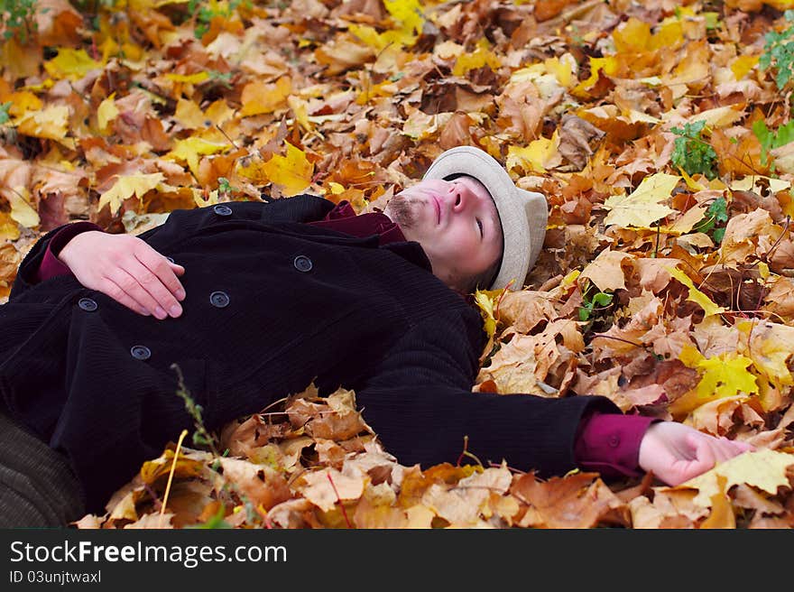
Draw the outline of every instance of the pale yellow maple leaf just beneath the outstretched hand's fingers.
M794 455L785 452L768 449L745 452L673 489L697 489L698 493L693 501L703 507L710 507L711 498L719 494L719 476L725 478L725 491L744 483L775 495L778 493L778 487L789 486L786 470L792 465L794 465Z

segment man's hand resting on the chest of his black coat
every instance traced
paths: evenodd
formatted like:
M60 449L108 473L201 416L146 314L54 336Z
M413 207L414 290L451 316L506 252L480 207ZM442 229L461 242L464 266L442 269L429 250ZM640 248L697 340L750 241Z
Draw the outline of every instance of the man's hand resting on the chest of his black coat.
M58 255L82 285L101 291L142 315L157 319L179 317L185 289L177 276L185 268L172 264L142 239L108 235L97 230L80 233Z

